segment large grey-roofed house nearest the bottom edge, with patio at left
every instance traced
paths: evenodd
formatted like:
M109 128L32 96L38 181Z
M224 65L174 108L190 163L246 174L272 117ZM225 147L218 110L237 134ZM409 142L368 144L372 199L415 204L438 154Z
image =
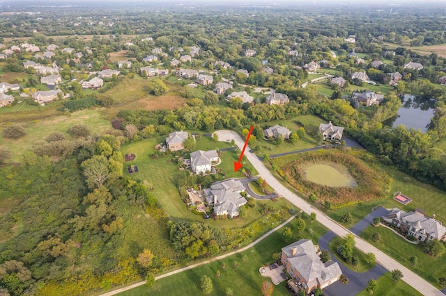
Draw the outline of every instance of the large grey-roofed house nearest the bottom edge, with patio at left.
M326 288L339 280L342 271L334 261L323 263L312 240L298 240L282 248L280 259L292 277L289 286L294 290L295 281L302 284L305 295L316 288ZM296 291L297 292L297 291Z

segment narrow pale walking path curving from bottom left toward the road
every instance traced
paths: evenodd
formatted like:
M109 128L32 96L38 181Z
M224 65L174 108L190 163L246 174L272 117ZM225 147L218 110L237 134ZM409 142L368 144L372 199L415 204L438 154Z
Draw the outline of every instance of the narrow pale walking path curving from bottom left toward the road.
M223 255L214 257L214 258L211 258L211 259L206 260L206 261L201 261L201 262L199 262L199 263L195 263L195 264L186 266L185 268L179 268L178 270L172 270L171 272L167 272L167 273L164 273L164 274L160 274L159 276L155 277L155 281L157 281L158 279L163 279L164 277L169 277L169 276L171 276L171 275L174 275L174 274L177 274L177 273L186 271L186 270L192 270L192 268L197 268L197 267L199 267L199 266L201 266L201 265L206 265L206 264L211 263L211 262L214 262L214 261L222 260L222 259L224 259L224 258L226 258L226 257L232 256L233 254L238 254L238 253L240 253L240 252L243 252L243 251L249 249L250 247L254 247L254 245L257 245L259 242L261 242L262 240L264 240L265 238L267 238L268 236L270 236L271 233L274 233L275 231L281 229L281 228L284 227L286 224L288 224L289 222L291 222L291 220L293 220L294 218L295 218L295 215L289 217L288 220L286 220L285 222L283 222L283 223L280 224L279 226L275 227L274 229L271 229L271 230L268 231L267 233L263 234L263 236L261 236L260 238L257 238L256 240L254 240L254 242L251 242L251 243L250 243L249 245L247 245L246 247L243 247L243 248L241 248L241 249L237 249L236 251L229 252L229 253L226 253L226 254L223 254ZM125 287L123 287L123 288L118 288L118 289L116 289L116 290L112 290L112 291L110 291L110 292L108 292L108 293L104 293L104 294L102 294L102 295L100 295L100 296L112 296L112 295L116 295L116 294L118 294L118 293L122 293L122 292L125 292L126 290L130 290L130 289L133 289L133 288L137 288L137 287L139 287L139 286L143 286L143 285L145 285L145 284L146 284L146 281L139 281L139 282L134 283L134 284L132 284L132 285L130 285L130 286L125 286Z

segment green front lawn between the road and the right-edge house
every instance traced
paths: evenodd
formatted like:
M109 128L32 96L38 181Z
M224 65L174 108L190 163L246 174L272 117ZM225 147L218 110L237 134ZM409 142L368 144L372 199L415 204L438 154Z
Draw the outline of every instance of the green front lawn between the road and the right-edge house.
M372 242L370 237L373 233L380 233L381 240L379 242ZM425 254L418 245L413 245L403 238L397 236L393 231L385 227L367 227L362 233L361 237L369 241L372 245L391 256L399 263L413 270L437 288L438 278L444 277L446 274L446 254L439 258L434 258ZM412 256L418 258L418 263L415 267L409 265L409 259Z

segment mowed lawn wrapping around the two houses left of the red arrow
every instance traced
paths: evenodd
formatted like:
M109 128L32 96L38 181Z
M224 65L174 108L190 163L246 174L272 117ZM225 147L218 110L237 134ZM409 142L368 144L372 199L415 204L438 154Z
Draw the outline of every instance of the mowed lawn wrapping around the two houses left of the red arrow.
M127 174L127 167L129 165L137 165L139 172L131 174L130 176L140 181L148 181L153 183L153 194L157 197L158 202L162 206L163 210L172 217L174 220L182 221L199 221L203 222L203 217L195 215L191 211L187 210L186 205L180 199L178 188L176 184L185 171L178 170L178 165L174 162L169 162L174 159L173 156L167 156L162 158L151 158L151 154L155 152L153 147L164 140L164 138L147 139L138 142L132 142L124 145L121 148L123 154L132 153L136 155L134 161L124 164L124 174ZM213 142L209 137L201 137L197 140L197 147L195 150L209 150L209 149L223 149L231 147L230 143L226 142ZM189 153L186 153L185 157L188 157ZM222 154L222 163L217 167L222 168L226 174L226 178L243 177L240 170L238 172L233 171L233 162L238 160L238 154L236 151L224 151ZM249 165L246 163L245 165ZM254 170L254 173L257 172ZM215 178L215 176L213 176ZM221 181L222 179L215 179L215 181ZM277 202L257 201L254 208L247 209L247 217L245 219L233 219L233 220L208 220L206 223L214 224L222 228L236 228L244 227L247 224L259 219L261 217L261 207L263 205L273 206L273 208L287 208L292 206L286 199L279 199Z

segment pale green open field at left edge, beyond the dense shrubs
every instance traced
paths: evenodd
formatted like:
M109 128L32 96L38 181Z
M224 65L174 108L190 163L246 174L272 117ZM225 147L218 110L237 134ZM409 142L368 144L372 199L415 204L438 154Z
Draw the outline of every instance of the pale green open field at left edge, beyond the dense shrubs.
M26 135L20 139L6 139L0 135L0 145L9 147L12 154L10 161L19 162L24 151L29 150L39 140L45 140L47 135L59 131L65 133L67 138L68 129L75 124L86 124L92 133L101 133L107 129L112 129L112 124L105 120L100 110L82 110L72 113L70 117L66 115L54 116L46 120L35 122L24 122L22 126ZM3 129L7 124L2 124Z

